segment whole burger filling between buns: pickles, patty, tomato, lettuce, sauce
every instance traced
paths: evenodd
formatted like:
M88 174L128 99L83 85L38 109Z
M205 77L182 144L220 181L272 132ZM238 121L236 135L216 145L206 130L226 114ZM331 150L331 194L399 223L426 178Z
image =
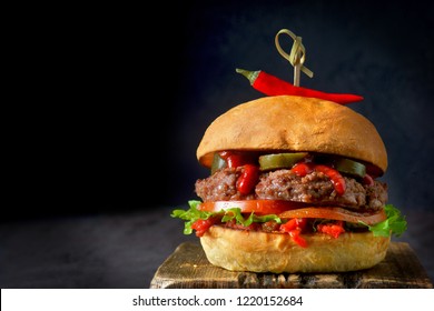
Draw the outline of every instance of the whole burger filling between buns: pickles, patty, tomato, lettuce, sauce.
M186 220L185 233L204 235L213 225L289 234L308 247L303 234L371 230L374 235L401 235L406 221L387 202L387 185L365 164L307 152L258 154L216 153L211 174L196 181L201 201L175 210Z

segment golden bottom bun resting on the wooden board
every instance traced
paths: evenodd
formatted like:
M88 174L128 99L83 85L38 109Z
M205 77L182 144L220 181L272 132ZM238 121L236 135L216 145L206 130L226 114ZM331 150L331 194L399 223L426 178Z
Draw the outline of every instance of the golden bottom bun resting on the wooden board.
M307 248L289 234L228 229L218 225L200 238L209 262L231 271L250 272L345 272L372 268L387 252L391 238L372 232L303 234Z

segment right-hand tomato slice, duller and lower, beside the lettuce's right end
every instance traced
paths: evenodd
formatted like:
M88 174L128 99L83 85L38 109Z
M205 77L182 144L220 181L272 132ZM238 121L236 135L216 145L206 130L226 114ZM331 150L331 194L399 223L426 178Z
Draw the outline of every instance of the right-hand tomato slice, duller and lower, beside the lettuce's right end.
M386 212L381 210L375 213L359 213L342 208L302 208L296 210L285 211L278 214L279 218L323 218L333 220L343 220L347 222L363 221L372 225L387 219Z

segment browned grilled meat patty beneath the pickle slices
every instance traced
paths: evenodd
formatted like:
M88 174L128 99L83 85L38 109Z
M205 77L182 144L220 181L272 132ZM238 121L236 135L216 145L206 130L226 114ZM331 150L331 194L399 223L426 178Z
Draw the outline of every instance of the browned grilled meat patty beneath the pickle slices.
M344 177L346 190L338 195L324 173L313 171L298 177L288 169L262 173L255 191L244 195L236 187L241 173L241 167L225 168L206 179L199 179L195 184L196 194L204 202L266 199L371 211L381 210L387 201L387 185L379 181L363 184L354 178Z

